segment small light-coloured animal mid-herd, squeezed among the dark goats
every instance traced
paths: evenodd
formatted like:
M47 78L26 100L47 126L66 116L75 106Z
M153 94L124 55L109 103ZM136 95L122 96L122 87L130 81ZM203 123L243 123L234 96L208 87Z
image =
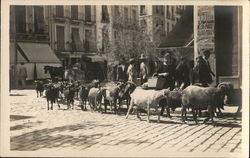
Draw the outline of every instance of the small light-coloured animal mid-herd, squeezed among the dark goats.
M91 88L88 93L88 99L91 110L96 110L99 105L99 109L101 109L101 101L104 93L104 89L101 88Z

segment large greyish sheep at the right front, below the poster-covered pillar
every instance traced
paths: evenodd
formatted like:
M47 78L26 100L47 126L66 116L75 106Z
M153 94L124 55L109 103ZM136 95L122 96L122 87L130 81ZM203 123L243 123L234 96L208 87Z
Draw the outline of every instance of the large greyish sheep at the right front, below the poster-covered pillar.
M193 119L197 124L197 110L208 110L209 117L204 120L204 123L211 119L212 124L215 125L213 120L216 107L222 107L228 87L226 85L219 84L215 87L199 87L188 86L182 91L182 110L181 117L183 122L186 121L186 108L191 108L193 113ZM185 117L184 117L185 115Z

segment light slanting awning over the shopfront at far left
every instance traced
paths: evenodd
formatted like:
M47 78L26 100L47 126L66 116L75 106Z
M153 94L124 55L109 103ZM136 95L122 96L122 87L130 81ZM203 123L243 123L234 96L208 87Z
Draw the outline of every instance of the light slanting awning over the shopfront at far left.
M17 47L31 63L61 63L48 44L18 43Z

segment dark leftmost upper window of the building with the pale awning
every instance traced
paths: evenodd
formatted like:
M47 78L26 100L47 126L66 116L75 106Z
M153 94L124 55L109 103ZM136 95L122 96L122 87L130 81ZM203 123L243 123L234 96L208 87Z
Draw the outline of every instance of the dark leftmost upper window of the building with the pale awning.
M26 8L25 6L15 7L15 20L16 20L16 32L25 33L26 32Z

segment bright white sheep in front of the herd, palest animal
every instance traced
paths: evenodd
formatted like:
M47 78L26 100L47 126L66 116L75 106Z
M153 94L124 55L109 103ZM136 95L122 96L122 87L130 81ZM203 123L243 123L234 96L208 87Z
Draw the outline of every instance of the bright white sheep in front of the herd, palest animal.
M158 122L160 122L160 111L159 108L159 102L162 99L166 99L166 93L169 91L169 89L163 89L163 90L144 90L141 87L137 87L134 92L131 94L131 102L130 106L126 115L126 119L129 116L129 113L133 109L134 106L136 106L136 114L137 118L141 120L141 117L138 113L138 109L144 109L147 108L147 121L150 122L150 108L155 108L156 111L158 111Z

